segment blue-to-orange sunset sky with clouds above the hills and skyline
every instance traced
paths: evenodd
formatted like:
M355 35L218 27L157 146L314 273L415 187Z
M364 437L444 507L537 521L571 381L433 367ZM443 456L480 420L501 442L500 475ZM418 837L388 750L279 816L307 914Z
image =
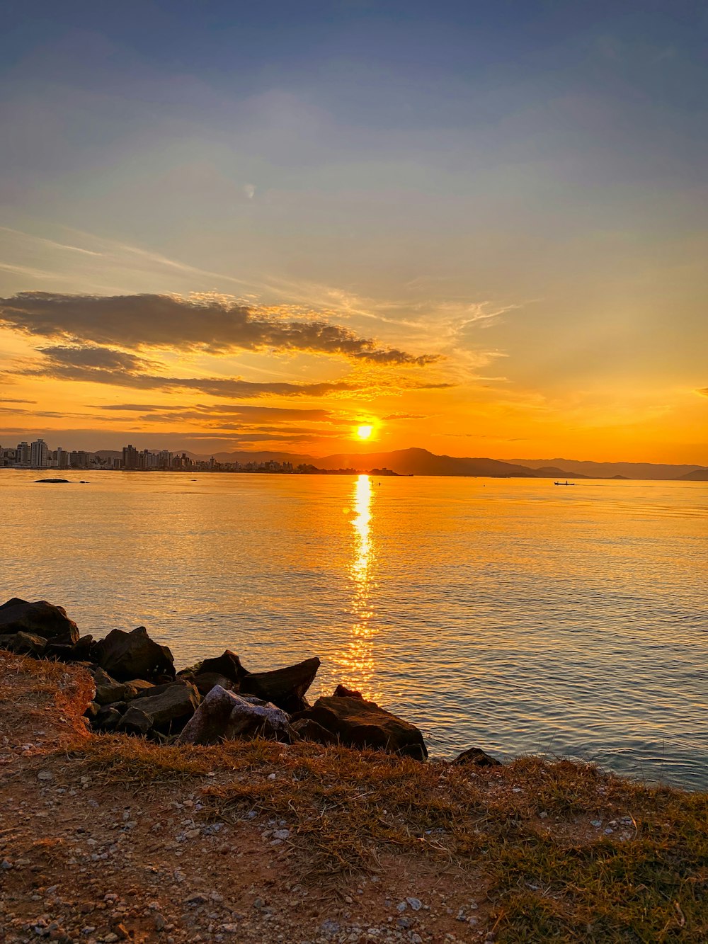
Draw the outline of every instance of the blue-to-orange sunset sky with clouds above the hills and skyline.
M0 444L708 464L707 39L6 0Z

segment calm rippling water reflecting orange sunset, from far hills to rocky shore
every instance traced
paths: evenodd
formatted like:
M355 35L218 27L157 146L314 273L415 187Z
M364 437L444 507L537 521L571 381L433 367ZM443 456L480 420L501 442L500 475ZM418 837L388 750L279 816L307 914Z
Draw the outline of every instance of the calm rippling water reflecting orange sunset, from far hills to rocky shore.
M178 666L318 655L432 754L708 786L708 485L0 472L0 594Z

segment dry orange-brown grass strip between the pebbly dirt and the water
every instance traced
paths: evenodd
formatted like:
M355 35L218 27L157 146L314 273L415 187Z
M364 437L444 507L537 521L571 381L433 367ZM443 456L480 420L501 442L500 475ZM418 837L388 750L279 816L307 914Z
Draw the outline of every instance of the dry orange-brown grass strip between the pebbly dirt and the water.
M384 853L473 870L499 940L708 940L705 794L565 761L480 770L267 741L187 749L96 737L77 755L129 789L203 778L210 818L287 819L296 861L318 881L376 871ZM617 821L613 833L597 819Z

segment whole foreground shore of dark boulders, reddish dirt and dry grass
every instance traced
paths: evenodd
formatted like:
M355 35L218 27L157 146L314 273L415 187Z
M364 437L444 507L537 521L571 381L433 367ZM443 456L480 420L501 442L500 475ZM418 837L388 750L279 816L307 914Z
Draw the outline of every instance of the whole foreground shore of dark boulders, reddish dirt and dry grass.
M175 670L0 607L0 940L708 939L708 797L472 749L319 662Z

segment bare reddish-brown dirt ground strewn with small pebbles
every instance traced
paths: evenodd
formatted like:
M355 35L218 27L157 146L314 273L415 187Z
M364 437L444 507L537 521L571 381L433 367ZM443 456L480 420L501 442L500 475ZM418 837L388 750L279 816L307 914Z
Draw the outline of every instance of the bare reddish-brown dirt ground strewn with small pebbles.
M308 875L287 818L208 817L204 790L111 783L76 755L87 673L0 653L0 940L493 940L469 870L381 855L376 874ZM88 771L88 772L87 772ZM285 776L274 765L271 779Z

